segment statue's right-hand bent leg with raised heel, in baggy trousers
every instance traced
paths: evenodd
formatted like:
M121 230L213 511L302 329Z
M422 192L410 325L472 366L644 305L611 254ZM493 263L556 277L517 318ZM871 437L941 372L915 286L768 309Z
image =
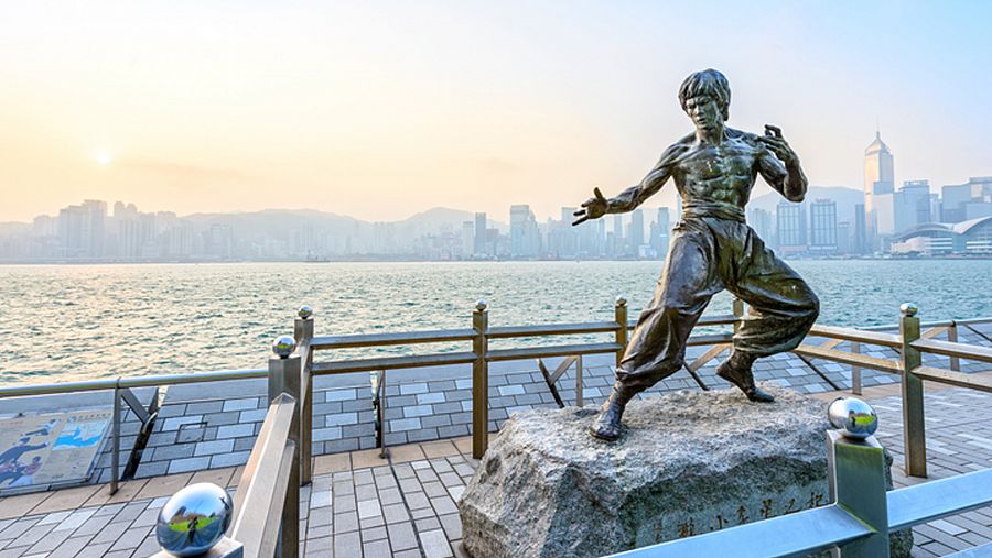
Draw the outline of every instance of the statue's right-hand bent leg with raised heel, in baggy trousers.
M772 401L754 386L751 365L761 357L795 349L817 320L820 302L809 285L779 260L748 229L743 244L740 273L725 278L727 289L750 306L747 318L734 333L731 357L718 369L753 401ZM742 383L744 385L742 385ZM748 389L756 390L754 396Z

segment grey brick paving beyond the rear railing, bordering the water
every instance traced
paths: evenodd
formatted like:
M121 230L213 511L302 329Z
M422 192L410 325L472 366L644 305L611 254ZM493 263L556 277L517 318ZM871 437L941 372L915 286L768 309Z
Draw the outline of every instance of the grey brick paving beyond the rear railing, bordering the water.
M992 324L982 326L985 335L992 335ZM989 346L989 341L966 328L959 328L960 342ZM818 344L823 339L810 338ZM687 361L701 354L708 347L692 347ZM838 350L849 351L848 343ZM863 346L864 354L898 359L898 354L878 347ZM725 355L725 354L724 354ZM698 373L710 387L727 387L715 375L720 358ZM320 353L316 355L320 359ZM557 361L553 361L557 362ZM925 357L928 365L947 368L948 359ZM551 393L532 361L509 363L489 379L489 430L496 431L516 411L535 407L554 407ZM608 395L613 384L613 355L586 357L583 374L586 405L599 405ZM851 387L850 366L827 361L813 361L817 369L841 389ZM990 370L988 364L961 362L964 372ZM402 445L444 438L467 436L472 424L472 381L468 368L462 368L460 376L421 382L402 382L403 371L390 372L387 382L386 418L387 445ZM368 375L355 376L354 387L315 390L313 403L313 455L338 453L374 447L374 411ZM758 381L773 381L802 393L833 391L816 371L795 354L777 354L755 364ZM897 383L898 378L872 370L862 371L864 386ZM676 390L698 390L699 386L686 370L659 382L643 393L641 397L656 396ZM567 404L575 403L574 369L559 380L559 390ZM171 403L168 395L159 412L148 447L144 449L137 478L158 477L205 469L219 469L244 464L255 444L265 419L267 403L259 396ZM125 425L125 436L137 431L137 423ZM127 441L127 440L125 440ZM95 482L109 481L109 453L101 459Z

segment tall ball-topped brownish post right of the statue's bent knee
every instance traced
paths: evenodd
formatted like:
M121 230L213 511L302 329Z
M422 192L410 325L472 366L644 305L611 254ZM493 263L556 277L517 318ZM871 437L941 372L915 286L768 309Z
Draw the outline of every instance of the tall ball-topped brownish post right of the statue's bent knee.
M899 306L899 337L903 340L899 364L903 369L903 446L906 450L906 474L927 475L927 439L924 424L923 380L913 371L920 365L919 351L913 341L919 339L919 318L916 305L905 303Z

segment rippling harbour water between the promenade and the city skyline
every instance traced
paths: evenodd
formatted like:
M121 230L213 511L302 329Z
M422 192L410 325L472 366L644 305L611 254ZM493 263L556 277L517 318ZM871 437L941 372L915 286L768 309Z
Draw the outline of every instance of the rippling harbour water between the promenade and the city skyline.
M894 324L905 300L919 306L924 320L992 316L990 260L790 265L820 296L824 325ZM465 328L481 298L493 326L612 319L617 295L636 317L660 267L655 261L6 265L0 385L262 368L269 343L291 332L301 304L314 307L317 335ZM708 311L730 307L723 293ZM467 350L427 350L456 349Z

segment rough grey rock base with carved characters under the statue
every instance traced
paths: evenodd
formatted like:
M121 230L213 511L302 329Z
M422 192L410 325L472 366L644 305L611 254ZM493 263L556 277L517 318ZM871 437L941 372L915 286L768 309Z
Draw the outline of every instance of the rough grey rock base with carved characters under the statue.
M632 402L615 442L589 435L594 408L514 415L459 502L467 551L599 557L827 504L826 403L762 387L775 403Z

